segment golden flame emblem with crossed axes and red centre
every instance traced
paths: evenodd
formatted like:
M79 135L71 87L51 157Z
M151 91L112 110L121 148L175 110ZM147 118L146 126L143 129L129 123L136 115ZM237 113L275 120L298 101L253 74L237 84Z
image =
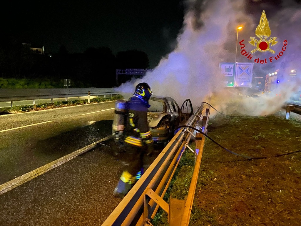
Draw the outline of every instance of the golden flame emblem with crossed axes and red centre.
M268 26L268 19L266 18L264 10L261 13L259 24L255 30L255 35L259 38L259 40L257 40L256 37L250 37L251 41L249 41L252 46L256 46L256 49L251 51L252 54L256 51L269 51L272 54L275 54L275 51L270 48L270 44L271 46L274 46L278 41L276 41L276 37L270 38L268 41L266 40L269 36L271 36L271 29Z

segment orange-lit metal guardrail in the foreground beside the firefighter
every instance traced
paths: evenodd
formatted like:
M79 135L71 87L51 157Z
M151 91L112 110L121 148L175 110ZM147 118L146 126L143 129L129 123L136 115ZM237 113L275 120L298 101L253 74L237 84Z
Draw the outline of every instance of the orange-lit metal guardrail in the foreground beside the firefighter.
M188 119L185 125L198 127L206 133L209 112L210 108L207 108L206 111L204 111L202 104L194 115ZM193 202L197 175L200 167L201 151L195 152L196 164L188 197L186 200L178 200L179 202L182 202L183 208L181 211L176 211L177 208L175 208L172 203L166 203L163 200L163 196L169 187L169 183L172 180L183 152L186 147L191 149L188 146L191 136L194 136L194 134L193 129L190 128L180 129L176 133L151 166L147 168L134 187L123 198L106 221L104 221L102 226L152 225L150 222L151 218L154 219L159 206L167 212L168 219L171 219L173 216L180 216L181 221L189 222L191 205ZM204 142L204 137L202 140L202 142ZM198 147L199 146L200 145L198 145ZM169 221L169 225L188 225L180 224L181 221Z

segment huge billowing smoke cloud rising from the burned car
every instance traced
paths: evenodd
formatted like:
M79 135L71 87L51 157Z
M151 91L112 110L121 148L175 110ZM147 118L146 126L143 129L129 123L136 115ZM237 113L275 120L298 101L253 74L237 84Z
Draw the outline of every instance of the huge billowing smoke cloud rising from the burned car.
M255 29L259 24L262 10L265 10L271 37L277 37L277 45L273 46L277 55L287 40L287 49L276 61L267 64L254 63L253 77L264 77L268 73L280 69L287 74L291 69L299 69L301 42L301 7L292 0L283 0L280 5L269 1L214 0L186 1L186 13L183 28L177 38L177 45L171 53L161 59L154 71L147 72L141 78L129 81L117 89L125 97L132 96L135 86L147 82L154 95L170 96L179 105L190 98L194 109L203 101L215 108L225 110L235 102L239 108L231 111L246 115L268 115L277 111L291 96L298 95L301 90L300 81L281 81L276 90L261 94L259 98L249 98L238 93L248 89L224 87L219 72L220 62L234 62L236 51L237 27L238 42L244 39L246 48L252 48L249 37L255 37ZM253 62L240 54L237 47L237 62ZM256 52L254 58L274 56L270 52ZM249 92L249 91L248 91ZM277 94L277 96L276 96ZM280 94L280 95L279 95ZM299 93L300 95L301 93ZM229 109L229 108L228 108Z

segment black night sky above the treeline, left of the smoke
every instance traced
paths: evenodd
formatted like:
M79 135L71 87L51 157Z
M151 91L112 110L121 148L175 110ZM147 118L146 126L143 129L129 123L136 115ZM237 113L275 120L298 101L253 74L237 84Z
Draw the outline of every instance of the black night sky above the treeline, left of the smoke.
M42 44L48 53L65 45L70 53L109 47L113 54L142 50L155 67L170 52L182 27L184 6L169 1L8 1L2 35Z

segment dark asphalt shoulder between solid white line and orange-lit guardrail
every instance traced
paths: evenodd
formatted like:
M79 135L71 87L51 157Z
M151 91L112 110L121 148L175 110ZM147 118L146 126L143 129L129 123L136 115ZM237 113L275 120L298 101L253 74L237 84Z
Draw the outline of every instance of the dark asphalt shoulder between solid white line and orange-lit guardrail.
M121 201L113 190L128 164L113 140L103 144L0 195L0 225L101 225Z

